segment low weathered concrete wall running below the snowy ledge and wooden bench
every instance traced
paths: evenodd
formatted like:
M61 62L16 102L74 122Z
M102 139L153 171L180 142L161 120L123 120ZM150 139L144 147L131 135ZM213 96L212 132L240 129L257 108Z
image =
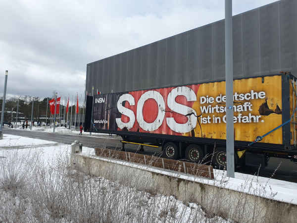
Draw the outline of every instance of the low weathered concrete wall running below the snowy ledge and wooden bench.
M86 154L71 154L71 166L79 170L147 191L175 196L185 203L197 203L212 218L218 215L245 223L295 223L297 206L226 188L221 181L195 179L185 174L162 171L128 162L101 159ZM205 183L207 182L207 183ZM248 186L248 185L247 185Z

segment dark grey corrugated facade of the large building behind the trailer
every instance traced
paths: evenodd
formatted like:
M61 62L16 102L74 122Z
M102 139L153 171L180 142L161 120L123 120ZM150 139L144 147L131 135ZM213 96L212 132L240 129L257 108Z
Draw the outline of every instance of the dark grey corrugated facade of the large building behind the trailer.
M297 0L233 16L234 77L297 75ZM87 64L86 90L123 92L223 80L225 25L220 20Z

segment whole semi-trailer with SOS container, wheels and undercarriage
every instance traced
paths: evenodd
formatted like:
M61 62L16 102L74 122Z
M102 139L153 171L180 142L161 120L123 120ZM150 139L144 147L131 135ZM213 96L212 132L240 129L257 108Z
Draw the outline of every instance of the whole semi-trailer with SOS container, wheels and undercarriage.
M224 167L232 109L236 166L264 168L270 157L297 162L297 78L281 72L234 79L233 87L233 108L226 108L225 81L87 96L85 131L121 136L123 150L160 147L168 159L213 156Z

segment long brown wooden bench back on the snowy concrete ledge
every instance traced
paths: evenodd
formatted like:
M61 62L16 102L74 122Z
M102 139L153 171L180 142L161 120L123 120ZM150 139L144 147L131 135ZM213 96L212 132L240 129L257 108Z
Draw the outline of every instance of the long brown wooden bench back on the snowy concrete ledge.
M102 148L95 148L95 153L96 156L104 158L113 158L126 162L146 165L149 167L157 167L165 170L214 179L213 167L207 165Z

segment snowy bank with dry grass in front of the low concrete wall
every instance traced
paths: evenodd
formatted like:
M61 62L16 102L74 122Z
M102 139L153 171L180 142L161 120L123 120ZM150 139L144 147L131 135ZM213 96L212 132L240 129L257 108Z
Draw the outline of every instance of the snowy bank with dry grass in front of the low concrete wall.
M71 169L66 144L4 134L0 148L0 222L233 222L191 200L129 187L127 178Z

